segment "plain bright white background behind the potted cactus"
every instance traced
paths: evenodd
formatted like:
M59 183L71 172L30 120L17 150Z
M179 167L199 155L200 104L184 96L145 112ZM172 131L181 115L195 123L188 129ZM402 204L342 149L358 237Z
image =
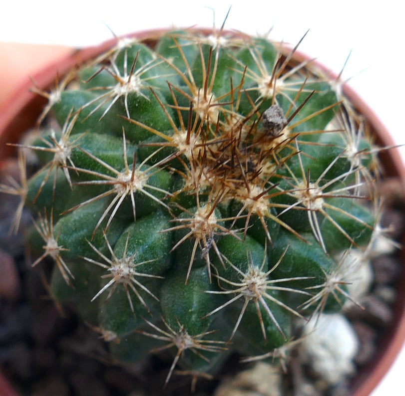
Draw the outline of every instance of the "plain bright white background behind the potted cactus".
M7 1L1 5L0 41L86 46L115 34L153 27L220 27L297 43L339 72L366 100L398 143L405 143L404 13L401 1ZM1 59L0 59L1 61ZM405 158L405 148L400 149ZM373 396L402 394L405 351Z

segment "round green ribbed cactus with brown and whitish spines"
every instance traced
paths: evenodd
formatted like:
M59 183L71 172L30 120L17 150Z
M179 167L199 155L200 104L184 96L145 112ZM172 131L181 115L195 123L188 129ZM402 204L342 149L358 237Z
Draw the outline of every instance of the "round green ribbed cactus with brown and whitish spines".
M19 146L22 185L1 186L21 197L14 229L22 205L38 213L33 265L55 262L53 298L118 361L169 350L166 383L232 352L271 356L297 318L339 311L350 269L336 254L373 240L364 120L282 49L222 31L121 40L36 89L41 134ZM40 163L28 179L26 148Z

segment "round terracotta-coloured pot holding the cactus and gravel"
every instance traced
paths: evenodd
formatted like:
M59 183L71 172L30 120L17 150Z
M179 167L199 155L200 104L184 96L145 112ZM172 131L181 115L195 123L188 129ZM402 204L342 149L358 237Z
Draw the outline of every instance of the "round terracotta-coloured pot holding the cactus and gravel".
M199 29L204 33L211 32L211 29ZM153 43L167 29L154 29L134 33L131 37L146 39L147 43ZM40 72L32 76L35 83L43 89L52 88L57 75L65 74L73 66L80 64L107 48L111 47L115 40L109 40L96 47L90 47L83 50L73 51L69 56L45 67ZM308 60L309 58L299 53L295 53L298 62ZM323 65L314 63L317 67L323 70L331 78L336 78L336 75ZM29 91L32 88L32 83L27 80L17 87L14 93L5 101L0 109L0 166L4 158L14 154L15 149L12 146L6 146L6 143L15 143L19 137L27 129L34 126L46 100ZM376 143L379 146L393 146L394 141L387 131L384 124L378 119L370 107L357 95L357 93L349 86L344 85L344 93L354 104L357 110L362 113L375 135ZM399 177L405 186L405 168L398 151L389 150L383 151L380 154L381 162L383 163L385 175L388 177ZM405 243L405 240L402 241ZM405 251L401 252L401 257L405 262ZM405 271L397 282L397 301L394 305L394 320L390 327L386 330L383 337L380 339L377 353L372 362L363 367L353 380L352 394L354 396L367 396L378 385L384 375L387 373L393 364L396 356L401 350L405 340ZM17 395L12 390L12 387L5 381L0 373L0 395L13 396Z

